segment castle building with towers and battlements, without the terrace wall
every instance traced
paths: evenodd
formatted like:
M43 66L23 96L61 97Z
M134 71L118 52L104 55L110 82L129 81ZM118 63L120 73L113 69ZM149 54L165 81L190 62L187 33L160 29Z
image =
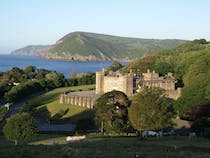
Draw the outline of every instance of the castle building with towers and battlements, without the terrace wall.
M96 94L102 95L112 90L124 92L128 97L140 92L142 87L159 87L164 89L167 97L178 99L181 96L181 88L176 88L176 80L172 73L160 76L155 71L141 75L133 74L130 71L127 74L119 72L106 72L105 69L96 72Z

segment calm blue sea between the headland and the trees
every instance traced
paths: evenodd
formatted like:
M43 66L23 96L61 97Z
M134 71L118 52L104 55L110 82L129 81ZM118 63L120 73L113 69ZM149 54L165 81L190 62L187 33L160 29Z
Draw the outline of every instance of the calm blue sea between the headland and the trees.
M126 65L127 62L121 62ZM66 78L72 72L96 72L111 65L110 61L61 61L43 59L36 56L23 55L0 55L0 71L5 72L12 67L24 68L26 66L36 66L38 69L54 70L63 73Z

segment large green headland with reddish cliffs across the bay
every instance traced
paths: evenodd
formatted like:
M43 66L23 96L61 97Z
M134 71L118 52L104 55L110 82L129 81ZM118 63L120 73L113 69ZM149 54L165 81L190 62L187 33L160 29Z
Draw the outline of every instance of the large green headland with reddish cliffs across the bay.
M49 59L129 61L154 51L174 48L184 40L140 39L104 34L73 32L39 53Z

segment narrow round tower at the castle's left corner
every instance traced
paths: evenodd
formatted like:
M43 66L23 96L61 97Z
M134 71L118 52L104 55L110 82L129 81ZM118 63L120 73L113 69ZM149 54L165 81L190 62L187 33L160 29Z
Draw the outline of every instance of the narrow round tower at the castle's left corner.
M96 72L96 94L104 93L104 70Z

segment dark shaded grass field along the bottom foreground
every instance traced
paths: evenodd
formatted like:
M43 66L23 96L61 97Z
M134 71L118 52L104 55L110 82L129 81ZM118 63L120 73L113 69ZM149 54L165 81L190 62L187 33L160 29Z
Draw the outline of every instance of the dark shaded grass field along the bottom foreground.
M57 141L59 145L46 145ZM209 158L210 141L204 138L89 136L88 142L65 144L64 135L40 135L30 145L14 146L0 137L0 158ZM40 145L42 144L42 145ZM45 145L43 145L45 144Z

